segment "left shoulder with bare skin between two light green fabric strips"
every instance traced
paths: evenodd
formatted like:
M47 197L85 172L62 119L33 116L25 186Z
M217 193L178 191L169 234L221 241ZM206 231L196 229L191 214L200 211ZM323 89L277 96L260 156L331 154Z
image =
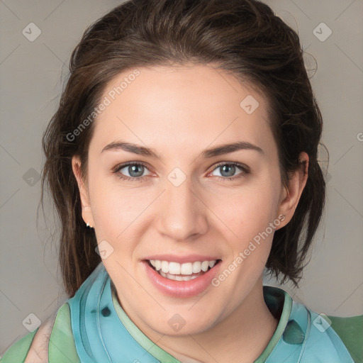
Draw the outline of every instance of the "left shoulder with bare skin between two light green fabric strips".
M67 303L39 328L11 345L0 362L44 363L49 360L53 363L63 362L65 359L71 363L79 362Z

